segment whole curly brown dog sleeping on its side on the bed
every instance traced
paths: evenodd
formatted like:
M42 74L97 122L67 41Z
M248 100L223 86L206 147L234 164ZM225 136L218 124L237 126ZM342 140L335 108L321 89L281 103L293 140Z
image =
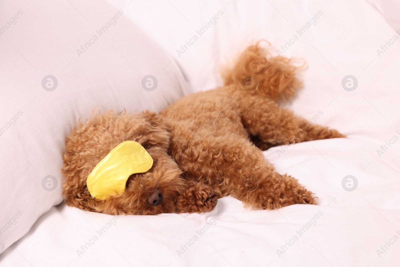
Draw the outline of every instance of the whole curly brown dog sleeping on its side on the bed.
M223 74L225 85L180 98L160 114L114 114L79 122L66 139L65 201L69 206L107 214L201 213L231 195L245 207L278 209L316 204L313 193L290 175L281 175L259 147L344 137L311 125L278 106L302 82L285 57L271 57L257 42ZM140 143L154 163L130 175L124 193L92 197L86 179L124 141Z

